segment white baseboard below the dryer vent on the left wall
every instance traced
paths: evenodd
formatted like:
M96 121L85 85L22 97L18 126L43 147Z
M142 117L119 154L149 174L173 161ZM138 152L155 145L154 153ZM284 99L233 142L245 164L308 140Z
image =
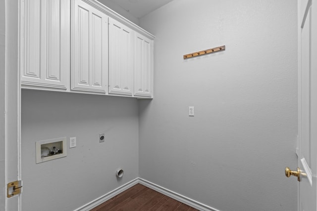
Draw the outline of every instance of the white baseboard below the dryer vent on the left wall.
M88 204L74 210L74 211L90 211L95 207L98 207L99 205L105 203L109 199L115 197L116 195L122 193L123 191L129 189L130 187L136 185L139 183L139 178L135 178L131 180L130 182L110 191L109 193L106 193L105 195L93 200L92 202L89 202Z

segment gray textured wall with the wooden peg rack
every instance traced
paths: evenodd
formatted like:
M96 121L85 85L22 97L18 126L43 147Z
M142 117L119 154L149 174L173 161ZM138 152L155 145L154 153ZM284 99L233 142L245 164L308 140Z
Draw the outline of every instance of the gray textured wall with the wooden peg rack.
M297 1L174 0L140 25L156 36L140 177L220 211L297 210Z

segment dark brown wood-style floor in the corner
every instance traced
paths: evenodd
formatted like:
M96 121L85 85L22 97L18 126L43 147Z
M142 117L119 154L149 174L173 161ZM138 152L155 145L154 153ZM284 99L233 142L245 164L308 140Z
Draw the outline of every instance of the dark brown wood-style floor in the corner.
M91 211L197 211L141 184L136 184Z

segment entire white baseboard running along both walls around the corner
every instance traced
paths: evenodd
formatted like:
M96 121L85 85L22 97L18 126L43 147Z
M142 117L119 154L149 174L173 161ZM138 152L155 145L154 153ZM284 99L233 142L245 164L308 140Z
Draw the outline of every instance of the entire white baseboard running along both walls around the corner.
M129 189L130 187L132 187L138 183L140 183L148 188L151 188L155 191L158 191L159 193L161 193L165 196L168 196L172 199L175 199L176 201L179 201L179 202L181 202L185 205L188 205L192 208L195 208L199 211L219 211L217 209L211 208L205 204L202 204L202 203L197 202L193 199L190 199L186 196L175 193L171 190L168 190L167 188L161 187L153 182L147 181L147 180L142 179L142 178L135 178L135 179L131 180L130 182L110 191L109 193L106 193L105 195L99 197L98 199L95 199L92 202L89 202L88 204L76 209L75 211L89 211L95 207L98 207L99 205L105 203L106 201L108 201L112 197L115 197L116 195L122 193L123 191Z

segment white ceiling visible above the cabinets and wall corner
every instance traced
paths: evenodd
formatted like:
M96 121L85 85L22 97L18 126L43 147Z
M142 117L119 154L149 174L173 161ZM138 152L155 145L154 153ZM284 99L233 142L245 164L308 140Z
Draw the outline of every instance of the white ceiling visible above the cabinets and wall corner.
M172 0L109 0L136 18L158 9Z

